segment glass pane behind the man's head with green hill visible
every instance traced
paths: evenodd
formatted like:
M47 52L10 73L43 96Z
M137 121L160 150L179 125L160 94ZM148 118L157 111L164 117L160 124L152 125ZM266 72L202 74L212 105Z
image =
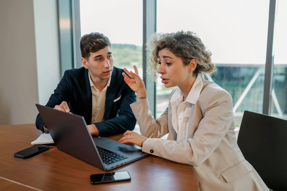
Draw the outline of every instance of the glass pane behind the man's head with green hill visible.
M131 8L132 7L132 8ZM111 40L114 66L139 69L142 77L143 3L134 0L80 0L81 36L103 33Z

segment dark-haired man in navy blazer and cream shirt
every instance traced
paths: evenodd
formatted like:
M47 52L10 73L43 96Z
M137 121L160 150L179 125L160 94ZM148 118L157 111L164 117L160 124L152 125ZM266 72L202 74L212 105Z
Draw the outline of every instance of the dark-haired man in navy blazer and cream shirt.
M113 66L110 40L101 33L81 38L82 68L70 69L51 95L47 107L85 118L92 135L111 135L133 130L136 119L130 104L136 95L122 78L123 69ZM36 127L47 133L40 114Z

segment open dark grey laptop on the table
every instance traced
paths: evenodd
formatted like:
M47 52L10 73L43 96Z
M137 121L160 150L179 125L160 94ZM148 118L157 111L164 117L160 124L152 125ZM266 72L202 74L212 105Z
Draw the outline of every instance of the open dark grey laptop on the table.
M92 137L82 116L37 103L36 107L59 150L99 169L111 170L149 155L137 145L121 144L105 137ZM102 159L103 154L108 156Z

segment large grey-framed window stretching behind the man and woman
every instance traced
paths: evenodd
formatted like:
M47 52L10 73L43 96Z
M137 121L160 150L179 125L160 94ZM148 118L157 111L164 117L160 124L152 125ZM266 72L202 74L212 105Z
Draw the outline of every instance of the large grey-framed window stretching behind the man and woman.
M262 113L263 106L266 106L265 100L263 103L265 73L271 73L265 71L269 66L265 64L269 3L275 0L178 0L176 4L172 0L75 2L78 1L81 35L101 32L109 37L116 67L132 70L132 66L137 65L143 78L142 41L155 27L157 32L194 31L211 50L213 62L218 67L213 76L205 77L233 97L236 127L240 126L244 110ZM287 119L287 59L284 56L287 3L284 0L276 2L270 115ZM153 18L155 13L156 18ZM148 34L143 34L143 28L149 31ZM148 94L152 92L153 95L154 90L150 89ZM150 100L150 107L156 105L155 118L168 105L172 89L165 88L160 81L156 85L156 98ZM150 94L148 97L151 98Z

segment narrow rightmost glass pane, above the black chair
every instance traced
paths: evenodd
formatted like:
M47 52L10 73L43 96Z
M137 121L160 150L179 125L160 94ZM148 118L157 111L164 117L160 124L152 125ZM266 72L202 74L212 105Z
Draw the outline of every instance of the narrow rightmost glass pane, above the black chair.
M287 119L287 1L277 1L274 30L274 74L271 115Z

